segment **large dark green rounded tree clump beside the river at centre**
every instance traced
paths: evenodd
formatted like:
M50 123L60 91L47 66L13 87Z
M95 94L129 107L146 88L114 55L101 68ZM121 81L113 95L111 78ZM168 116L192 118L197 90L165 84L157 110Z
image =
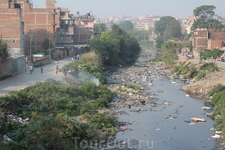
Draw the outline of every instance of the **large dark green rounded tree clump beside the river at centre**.
M90 46L100 55L103 66L128 65L141 51L137 39L118 25L113 25L112 31L96 35L91 39Z

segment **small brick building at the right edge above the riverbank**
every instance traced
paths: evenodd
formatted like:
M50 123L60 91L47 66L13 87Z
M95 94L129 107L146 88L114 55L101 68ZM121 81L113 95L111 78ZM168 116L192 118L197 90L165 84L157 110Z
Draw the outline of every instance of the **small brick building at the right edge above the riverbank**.
M198 54L205 49L220 48L225 44L225 31L218 31L215 27L196 29L192 35L193 51Z

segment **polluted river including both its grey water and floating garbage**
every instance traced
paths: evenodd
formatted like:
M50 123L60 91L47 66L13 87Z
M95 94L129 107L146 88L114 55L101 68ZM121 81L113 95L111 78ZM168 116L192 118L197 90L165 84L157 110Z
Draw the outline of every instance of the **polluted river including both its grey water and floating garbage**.
M120 125L115 138L101 149L218 148L220 140L213 138L214 121L206 115L212 111L210 103L191 98L180 90L185 86L183 81L165 74L169 70L162 64L143 62L105 72L116 96L110 109L102 113L114 115Z

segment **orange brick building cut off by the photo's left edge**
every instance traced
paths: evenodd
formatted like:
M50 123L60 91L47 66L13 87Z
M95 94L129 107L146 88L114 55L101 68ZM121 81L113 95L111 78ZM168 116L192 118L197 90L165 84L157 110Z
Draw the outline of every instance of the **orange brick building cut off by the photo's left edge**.
M23 30L20 6L9 0L0 0L0 35L8 42L10 53L23 54Z

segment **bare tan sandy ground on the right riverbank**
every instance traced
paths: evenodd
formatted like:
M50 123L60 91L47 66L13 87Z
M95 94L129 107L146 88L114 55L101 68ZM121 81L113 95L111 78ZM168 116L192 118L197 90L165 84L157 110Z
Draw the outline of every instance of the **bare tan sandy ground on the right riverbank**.
M178 63L183 61L189 61L193 64L196 64L196 66L200 65L199 58L186 60L185 56L182 56L180 54ZM225 85L225 78L224 78L225 62L208 60L208 61L203 61L202 63L206 63L206 62L216 63L218 67L220 68L219 71L208 73L201 80L196 81L182 88L182 90L185 91L186 93L189 93L193 95L194 97L200 98L200 99L203 98L207 94L207 92L212 89L214 85L217 85L217 84Z

